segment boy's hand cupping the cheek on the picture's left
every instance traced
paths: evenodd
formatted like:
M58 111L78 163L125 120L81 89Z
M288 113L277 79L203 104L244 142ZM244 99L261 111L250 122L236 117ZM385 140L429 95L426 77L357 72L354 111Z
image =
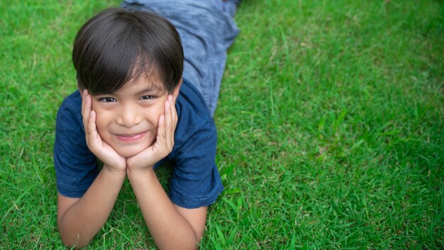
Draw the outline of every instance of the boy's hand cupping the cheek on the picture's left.
M112 171L126 171L126 159L119 156L97 132L96 112L92 110L92 99L87 89L84 89L82 95L82 117L89 150L104 163L104 168Z

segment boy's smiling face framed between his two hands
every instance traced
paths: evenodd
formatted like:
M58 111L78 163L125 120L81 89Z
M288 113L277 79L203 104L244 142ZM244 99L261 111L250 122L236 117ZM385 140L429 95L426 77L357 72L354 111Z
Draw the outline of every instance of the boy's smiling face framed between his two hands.
M169 93L151 78L140 77L112 94L91 96L97 131L120 156L135 156L156 140L157 123ZM172 93L174 102L179 88L180 83Z

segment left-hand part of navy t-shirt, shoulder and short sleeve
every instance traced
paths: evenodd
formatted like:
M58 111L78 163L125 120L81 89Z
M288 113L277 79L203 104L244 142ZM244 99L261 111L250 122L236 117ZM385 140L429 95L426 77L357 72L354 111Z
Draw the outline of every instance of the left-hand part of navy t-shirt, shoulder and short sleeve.
M54 165L57 191L82 197L97 176L97 163L85 141L79 92L67 97L57 112Z

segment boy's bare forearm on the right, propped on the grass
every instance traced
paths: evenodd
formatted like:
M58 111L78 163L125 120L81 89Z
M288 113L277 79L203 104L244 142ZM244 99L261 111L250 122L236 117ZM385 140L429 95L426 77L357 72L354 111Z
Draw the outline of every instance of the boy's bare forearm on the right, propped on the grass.
M177 211L160 185L154 170L128 170L145 223L159 249L196 249L196 233Z

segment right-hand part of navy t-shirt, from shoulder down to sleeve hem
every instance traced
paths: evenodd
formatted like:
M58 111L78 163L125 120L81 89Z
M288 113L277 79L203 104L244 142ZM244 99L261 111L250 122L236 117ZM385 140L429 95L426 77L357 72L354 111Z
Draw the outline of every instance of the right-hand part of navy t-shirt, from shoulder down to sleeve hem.
M176 107L170 199L189 209L211 205L223 190L216 167L216 126L204 98L189 82L182 83Z

